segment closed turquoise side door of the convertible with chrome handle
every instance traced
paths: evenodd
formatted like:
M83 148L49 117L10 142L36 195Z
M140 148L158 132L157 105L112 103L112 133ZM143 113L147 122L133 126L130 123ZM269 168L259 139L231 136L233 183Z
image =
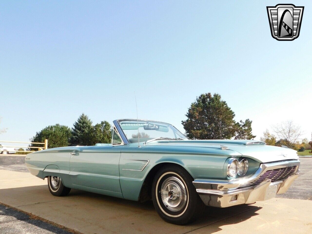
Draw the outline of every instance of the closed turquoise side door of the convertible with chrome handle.
M80 189L121 193L120 147L123 146L77 146L70 158L71 183Z

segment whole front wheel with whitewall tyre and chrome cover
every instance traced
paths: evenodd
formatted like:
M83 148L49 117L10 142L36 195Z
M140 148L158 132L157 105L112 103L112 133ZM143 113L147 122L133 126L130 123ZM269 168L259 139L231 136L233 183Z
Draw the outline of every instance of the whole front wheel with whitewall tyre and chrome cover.
M184 225L193 222L202 213L205 205L192 182L192 176L178 165L163 167L156 173L152 199L163 220Z

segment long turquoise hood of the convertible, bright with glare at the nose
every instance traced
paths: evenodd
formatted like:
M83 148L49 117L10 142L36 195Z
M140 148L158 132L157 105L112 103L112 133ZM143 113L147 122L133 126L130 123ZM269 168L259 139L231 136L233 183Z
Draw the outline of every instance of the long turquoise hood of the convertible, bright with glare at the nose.
M297 152L293 149L257 144L257 142L255 140L162 140L151 143L162 146L207 147L207 153L212 153L212 149L220 149L221 146L226 146L228 149L223 149L222 151L236 151L243 157L251 158L261 163L299 158ZM249 143L249 145L246 145L246 143Z

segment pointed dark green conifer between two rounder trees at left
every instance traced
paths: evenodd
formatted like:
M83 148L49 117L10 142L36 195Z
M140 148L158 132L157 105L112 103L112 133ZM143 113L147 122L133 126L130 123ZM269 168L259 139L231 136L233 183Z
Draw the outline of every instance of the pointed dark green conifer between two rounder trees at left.
M92 121L82 113L71 129L71 145L92 145Z

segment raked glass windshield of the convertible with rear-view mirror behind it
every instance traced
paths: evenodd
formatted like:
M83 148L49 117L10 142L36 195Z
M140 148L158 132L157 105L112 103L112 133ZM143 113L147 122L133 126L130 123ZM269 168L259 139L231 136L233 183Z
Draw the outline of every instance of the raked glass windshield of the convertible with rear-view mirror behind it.
M129 143L138 142L138 136L140 142L149 141L155 138L187 140L187 137L178 131L178 129L171 124L163 122L148 120L119 120L118 123Z

